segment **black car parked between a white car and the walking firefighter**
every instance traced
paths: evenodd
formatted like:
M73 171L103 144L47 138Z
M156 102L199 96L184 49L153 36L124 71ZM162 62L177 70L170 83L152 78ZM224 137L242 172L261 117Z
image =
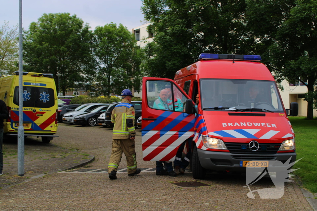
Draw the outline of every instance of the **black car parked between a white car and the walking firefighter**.
M74 125L97 125L98 116L100 116L101 113L104 113L107 110L108 106L109 104L106 106L99 106L89 112L76 116L74 118Z

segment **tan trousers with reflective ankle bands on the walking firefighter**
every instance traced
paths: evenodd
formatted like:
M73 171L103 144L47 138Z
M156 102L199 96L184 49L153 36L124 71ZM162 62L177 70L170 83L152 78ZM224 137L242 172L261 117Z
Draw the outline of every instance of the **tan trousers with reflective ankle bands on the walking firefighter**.
M108 165L108 172L117 171L122 152L126 156L126 165L128 174L133 174L137 169L137 158L134 150L134 140L130 139L113 139L112 152Z

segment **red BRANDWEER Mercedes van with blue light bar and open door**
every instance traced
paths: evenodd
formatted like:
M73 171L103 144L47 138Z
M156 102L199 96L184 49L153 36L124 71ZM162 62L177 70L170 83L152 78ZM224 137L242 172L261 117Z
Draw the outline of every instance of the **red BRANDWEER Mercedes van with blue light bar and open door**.
M297 115L298 104L284 108L272 74L259 61L257 55L203 53L174 80L144 77L143 159L174 161L189 140L195 179L203 179L206 170L245 171L251 160L295 161L287 116ZM161 97L166 87L167 100Z

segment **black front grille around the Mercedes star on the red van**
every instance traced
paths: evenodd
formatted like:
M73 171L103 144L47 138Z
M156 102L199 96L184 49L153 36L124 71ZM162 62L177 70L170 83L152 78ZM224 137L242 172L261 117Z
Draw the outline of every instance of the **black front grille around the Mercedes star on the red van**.
M276 143L259 143L259 149L257 151L252 151L249 148L249 143L225 142L225 145L233 154L275 154L281 146L281 144Z

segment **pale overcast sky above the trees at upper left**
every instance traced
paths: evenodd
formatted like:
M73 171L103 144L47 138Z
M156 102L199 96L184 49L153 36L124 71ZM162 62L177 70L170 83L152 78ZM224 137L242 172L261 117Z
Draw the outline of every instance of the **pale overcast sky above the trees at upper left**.
M122 23L128 29L142 25L141 0L22 0L23 28L28 29L43 13L76 14L92 29L107 23ZM0 26L19 24L19 0L0 0Z

